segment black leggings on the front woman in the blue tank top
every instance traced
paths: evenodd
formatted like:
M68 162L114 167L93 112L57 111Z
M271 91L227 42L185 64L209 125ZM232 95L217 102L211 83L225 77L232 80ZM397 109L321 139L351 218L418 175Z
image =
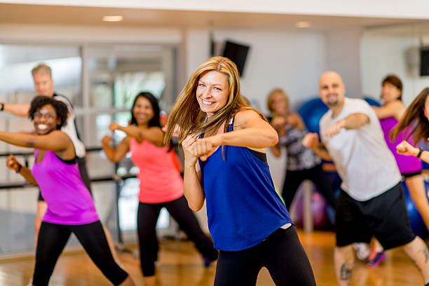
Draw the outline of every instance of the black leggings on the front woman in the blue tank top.
M214 286L256 285L262 267L268 269L275 285L315 285L310 261L292 225L288 229L274 231L264 241L247 250L221 250Z

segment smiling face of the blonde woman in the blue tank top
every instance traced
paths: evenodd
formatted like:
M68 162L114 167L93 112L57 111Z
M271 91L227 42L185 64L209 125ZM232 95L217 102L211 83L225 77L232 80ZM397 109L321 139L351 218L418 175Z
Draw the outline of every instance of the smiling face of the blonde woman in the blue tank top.
M196 99L201 111L208 117L222 109L229 97L229 83L225 74L207 71L200 76L196 89Z

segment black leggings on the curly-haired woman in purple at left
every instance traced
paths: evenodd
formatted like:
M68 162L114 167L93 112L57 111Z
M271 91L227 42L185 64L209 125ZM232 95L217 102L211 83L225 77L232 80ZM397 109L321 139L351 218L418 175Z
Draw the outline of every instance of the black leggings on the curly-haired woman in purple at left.
M48 285L50 275L71 233L76 235L95 265L114 285L120 285L128 277L128 273L111 256L100 221L81 225L42 222L37 240L34 286Z

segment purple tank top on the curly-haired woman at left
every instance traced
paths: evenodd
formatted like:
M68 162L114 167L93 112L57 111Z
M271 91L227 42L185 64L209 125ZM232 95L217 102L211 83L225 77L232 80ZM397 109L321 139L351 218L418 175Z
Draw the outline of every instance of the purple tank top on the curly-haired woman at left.
M39 149L34 152L32 175L39 184L48 205L43 222L52 224L90 224L99 219L93 198L81 179L77 163L67 164L53 151L46 151L36 163Z

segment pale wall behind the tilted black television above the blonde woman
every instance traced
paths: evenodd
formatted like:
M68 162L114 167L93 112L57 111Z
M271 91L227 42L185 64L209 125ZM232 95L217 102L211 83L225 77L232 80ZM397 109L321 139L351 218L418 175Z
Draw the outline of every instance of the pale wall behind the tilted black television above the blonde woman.
M190 29L186 36L187 72L209 57L209 31ZM250 46L241 91L250 102L267 113L266 95L272 88L283 88L292 106L318 92L318 78L326 69L324 35L320 32L271 32L267 30L214 30L214 41L221 46L231 40Z

